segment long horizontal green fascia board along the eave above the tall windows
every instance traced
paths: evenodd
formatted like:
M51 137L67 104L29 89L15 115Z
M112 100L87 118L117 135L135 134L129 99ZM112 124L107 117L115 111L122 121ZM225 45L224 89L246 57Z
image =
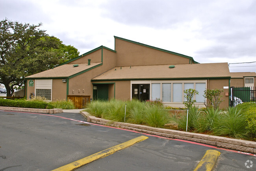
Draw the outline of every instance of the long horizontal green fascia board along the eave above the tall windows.
M137 81L137 80L195 80L195 79L230 79L230 77L191 77L191 78L133 78L133 79L91 79L91 82L100 81ZM96 84L96 83L95 83Z

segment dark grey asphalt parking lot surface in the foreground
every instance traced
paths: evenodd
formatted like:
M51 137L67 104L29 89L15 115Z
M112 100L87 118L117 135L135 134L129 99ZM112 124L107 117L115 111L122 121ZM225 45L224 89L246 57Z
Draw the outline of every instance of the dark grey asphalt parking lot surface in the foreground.
M77 170L194 170L211 149L80 121L79 113L0 111L0 171L53 170L141 135L148 139ZM215 170L256 169L256 156L218 151Z

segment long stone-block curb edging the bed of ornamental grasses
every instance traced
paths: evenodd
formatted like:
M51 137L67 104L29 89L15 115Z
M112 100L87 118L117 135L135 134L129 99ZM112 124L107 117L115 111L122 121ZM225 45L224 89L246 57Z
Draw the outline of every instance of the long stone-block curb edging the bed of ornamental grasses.
M234 149L237 151L245 153L256 154L256 142L247 140L237 140L232 138L212 136L205 134L198 134L192 132L176 131L171 129L155 128L146 125L135 125L131 123L113 122L109 120L104 120L101 118L96 118L91 116L88 112L80 112L83 116L87 118L88 122L97 123L101 125L107 125L111 127L117 127L122 129L130 129L133 131L144 132L147 134L154 134L158 136L164 136L168 138L176 138L181 140L188 140L198 143L209 144L217 147L223 147L227 149Z

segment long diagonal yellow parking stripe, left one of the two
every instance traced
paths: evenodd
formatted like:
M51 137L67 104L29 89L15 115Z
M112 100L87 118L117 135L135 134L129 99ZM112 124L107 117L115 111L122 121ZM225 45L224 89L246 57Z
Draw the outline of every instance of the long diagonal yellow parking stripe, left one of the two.
M124 142L124 143L121 143L119 145L115 145L113 147L110 147L108 149L105 149L105 150L102 150L98 153L95 153L95 154L92 154L91 156L87 156L85 158L82 158L80 160L77 160L75 162L72 162L70 164L67 164L67 165L63 165L57 169L54 169L53 171L71 171L73 169L76 169L78 167L81 167L85 164L88 164L88 163L91 163L93 162L94 160L98 160L100 158L104 158L106 156L108 156L109 154L113 154L119 150L122 150L126 147L129 147L135 143L138 143L138 142L141 142L143 140L146 140L148 137L147 136L139 136L137 138L134 138L132 140L129 140L127 142Z

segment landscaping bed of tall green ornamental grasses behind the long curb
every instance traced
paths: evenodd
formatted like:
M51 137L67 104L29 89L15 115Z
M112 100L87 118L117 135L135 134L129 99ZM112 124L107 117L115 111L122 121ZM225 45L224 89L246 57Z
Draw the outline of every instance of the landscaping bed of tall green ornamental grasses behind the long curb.
M125 110L126 107L126 110ZM166 124L178 124L178 130L242 140L256 140L256 104L243 103L236 108L219 110L213 108L189 108L182 111L164 110L160 103L132 101L93 101L87 112L97 118L117 122L168 128ZM249 111L249 112L248 112Z

